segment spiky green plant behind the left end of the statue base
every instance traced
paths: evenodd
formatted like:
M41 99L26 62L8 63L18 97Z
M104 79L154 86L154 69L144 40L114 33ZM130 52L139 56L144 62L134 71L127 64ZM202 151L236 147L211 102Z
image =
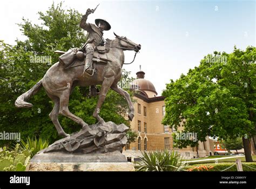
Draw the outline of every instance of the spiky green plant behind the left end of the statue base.
M33 138L26 138L26 141L21 139L21 147L23 149L26 149L26 146L28 145L28 149L34 149L33 151L30 151L31 158L37 154L37 152L45 149L49 146L49 140L48 139L42 139L41 137L33 139Z

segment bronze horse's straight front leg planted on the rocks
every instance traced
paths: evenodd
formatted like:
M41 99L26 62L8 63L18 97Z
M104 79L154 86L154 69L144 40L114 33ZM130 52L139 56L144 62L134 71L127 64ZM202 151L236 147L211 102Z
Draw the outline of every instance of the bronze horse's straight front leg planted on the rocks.
M95 117L99 121L100 124L105 123L103 118L101 118L99 116L100 108L102 107L102 104L104 103L107 91L109 91L110 86L112 85L113 81L114 81L114 77L104 78L103 83L102 83L102 87L101 87L100 93L99 93L99 100L98 100L98 103L96 105L96 109L93 112L93 117Z

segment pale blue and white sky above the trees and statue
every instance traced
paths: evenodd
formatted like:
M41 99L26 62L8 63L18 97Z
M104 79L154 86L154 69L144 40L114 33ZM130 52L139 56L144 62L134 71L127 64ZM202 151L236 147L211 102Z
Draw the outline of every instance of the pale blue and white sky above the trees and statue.
M60 1L54 1L56 4ZM5 1L0 5L0 39L15 44L24 39L15 23L22 17L39 23L38 11L45 11L52 0ZM139 65L146 72L158 95L170 79L198 66L207 53L232 52L233 46L245 49L255 46L255 1L74 1L66 0L65 8L85 13L87 8L96 12L96 18L110 22L112 29L105 38L113 39L113 31L142 45L142 50L131 65L124 65L136 76ZM3 30L3 28L5 28ZM125 52L125 62L131 62L133 52Z

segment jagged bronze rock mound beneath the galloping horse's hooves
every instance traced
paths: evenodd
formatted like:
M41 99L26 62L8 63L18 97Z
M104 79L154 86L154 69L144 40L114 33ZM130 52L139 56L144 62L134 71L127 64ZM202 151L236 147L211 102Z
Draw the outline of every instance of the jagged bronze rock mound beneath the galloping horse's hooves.
M56 152L64 154L122 153L127 143L126 132L128 130L129 127L126 125L117 125L113 122L93 124L88 130L80 130L69 137L55 141L38 154L47 153L50 156Z

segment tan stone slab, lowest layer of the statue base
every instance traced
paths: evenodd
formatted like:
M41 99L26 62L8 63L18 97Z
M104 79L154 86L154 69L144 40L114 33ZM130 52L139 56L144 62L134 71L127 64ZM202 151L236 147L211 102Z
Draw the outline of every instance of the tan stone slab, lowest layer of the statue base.
M30 163L26 171L135 171L130 162Z

